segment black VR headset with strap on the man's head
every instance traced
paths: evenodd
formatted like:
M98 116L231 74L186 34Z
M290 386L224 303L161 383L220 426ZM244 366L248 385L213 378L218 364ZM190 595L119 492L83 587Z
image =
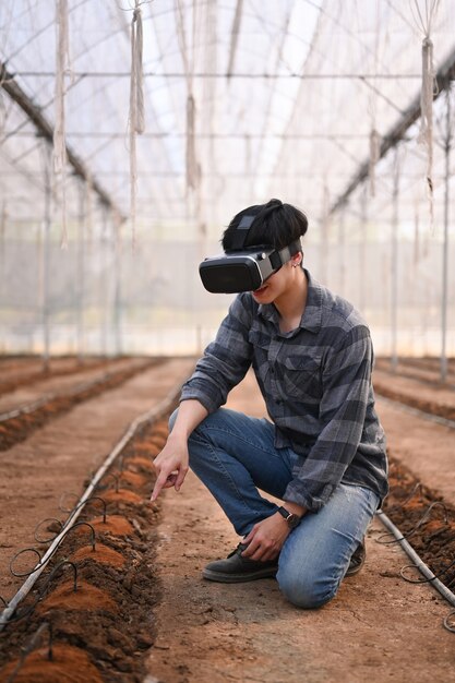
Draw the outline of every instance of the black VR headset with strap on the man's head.
M267 245L244 249L248 231L255 216L243 216L234 235L232 249L217 256L208 256L199 266L199 273L207 291L212 293L238 293L259 289L294 254L301 251L300 240L283 249Z

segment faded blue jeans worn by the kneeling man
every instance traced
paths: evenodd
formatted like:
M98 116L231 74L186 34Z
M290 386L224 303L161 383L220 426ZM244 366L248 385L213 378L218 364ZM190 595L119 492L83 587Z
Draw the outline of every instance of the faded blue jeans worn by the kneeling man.
M191 469L240 536L277 510L258 489L283 499L292 479L299 456L291 448L276 448L274 434L268 420L220 408L189 439ZM318 514L304 515L287 537L278 561L276 578L290 602L316 608L335 597L378 505L379 498L370 489L340 483Z

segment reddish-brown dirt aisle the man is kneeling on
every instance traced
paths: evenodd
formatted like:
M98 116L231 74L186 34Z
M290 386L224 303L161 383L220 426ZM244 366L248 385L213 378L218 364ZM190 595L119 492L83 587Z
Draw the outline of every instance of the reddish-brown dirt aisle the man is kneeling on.
M231 393L229 406L263 415L251 378ZM381 402L379 408L397 444L402 414L386 412ZM412 443L416 423L406 427L405 451L428 453L421 431ZM429 427L444 431L448 458L453 433ZM455 681L454 635L442 626L451 606L427 585L399 577L409 559L396 546L375 542L384 534L378 520L368 534L362 572L345 579L323 609L302 611L283 599L274 579L223 585L201 578L204 564L226 556L238 539L193 476L179 494L166 492L161 519L163 598L147 683Z

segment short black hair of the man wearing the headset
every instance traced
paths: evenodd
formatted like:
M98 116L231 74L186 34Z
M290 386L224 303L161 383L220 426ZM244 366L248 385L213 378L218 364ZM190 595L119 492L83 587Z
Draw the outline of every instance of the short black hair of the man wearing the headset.
M298 240L308 230L307 216L291 204L271 200L266 204L255 204L243 208L234 216L225 232L221 244L225 251L232 251L234 235L243 216L254 216L243 248L259 244L283 249Z

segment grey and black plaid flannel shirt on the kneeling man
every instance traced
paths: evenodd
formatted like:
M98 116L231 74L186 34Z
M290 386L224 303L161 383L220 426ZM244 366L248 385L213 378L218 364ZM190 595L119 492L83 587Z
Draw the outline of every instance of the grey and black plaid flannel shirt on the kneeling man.
M383 499L387 460L374 410L369 328L350 303L304 272L308 298L299 327L282 333L273 304L238 295L181 400L195 398L213 412L252 366L275 424L275 445L300 456L284 500L318 512L340 481Z

